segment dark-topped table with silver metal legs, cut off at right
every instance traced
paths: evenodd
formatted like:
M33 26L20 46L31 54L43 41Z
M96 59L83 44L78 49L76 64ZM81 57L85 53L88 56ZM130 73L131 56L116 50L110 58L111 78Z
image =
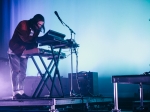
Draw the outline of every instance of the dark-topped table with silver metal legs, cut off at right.
M118 109L118 88L117 84L139 84L140 88L140 109L144 109L143 106L143 87L142 84L150 84L150 75L116 75L112 76L112 83L114 86L114 109L113 112L121 112Z

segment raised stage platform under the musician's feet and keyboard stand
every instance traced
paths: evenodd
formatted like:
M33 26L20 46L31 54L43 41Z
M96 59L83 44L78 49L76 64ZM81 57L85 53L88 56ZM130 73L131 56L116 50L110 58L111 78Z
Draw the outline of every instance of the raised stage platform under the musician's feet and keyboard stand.
M35 107L49 107L49 110L55 110L58 106L68 105L82 105L88 106L90 104L112 104L112 97L66 97L66 98L36 98L36 99L19 99L13 100L10 98L3 98L0 100L0 110L4 109L9 111L11 108L15 110L20 108L31 108ZM18 108L17 108L18 107ZM68 106L69 107L69 106ZM65 107L63 107L65 108ZM12 111L12 110L11 110ZM39 111L39 110L38 110Z

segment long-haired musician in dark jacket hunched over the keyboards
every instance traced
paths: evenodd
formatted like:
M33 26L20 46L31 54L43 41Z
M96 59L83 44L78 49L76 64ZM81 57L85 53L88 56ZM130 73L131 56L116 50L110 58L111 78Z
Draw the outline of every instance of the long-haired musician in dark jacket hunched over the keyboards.
M24 50L38 47L36 38L41 31L45 32L44 17L41 14L36 14L30 20L19 22L9 41L8 56L13 99L30 98L24 93L24 79L26 77L28 57L22 56L22 53Z

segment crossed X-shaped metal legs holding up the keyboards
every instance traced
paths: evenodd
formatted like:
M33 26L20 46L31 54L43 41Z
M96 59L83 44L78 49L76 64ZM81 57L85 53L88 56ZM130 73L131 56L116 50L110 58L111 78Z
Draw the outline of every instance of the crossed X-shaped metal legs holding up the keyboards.
M61 80L60 80L60 74L59 74L59 70L58 70L58 63L59 63L59 57L60 57L60 53L61 53L61 49L59 49L59 52L58 54L55 54L54 53L54 50L52 49L52 58L50 58L50 63L48 66L46 66L43 58L42 58L42 54L38 54L36 56L38 56L40 58L40 61L42 62L42 65L45 69L45 73L42 74L36 60L34 59L34 55L30 55L32 61L34 62L39 74L41 75L41 80L35 90L35 92L33 93L32 95L32 98L38 98L40 97L44 87L46 86L48 91L49 91L49 97L53 97L52 96L52 93L53 93L53 89L56 90L57 92L57 95L59 97L64 97L64 93L63 93L63 89L62 89L62 84L61 84ZM56 56L57 55L57 56ZM55 69L54 71L54 76L52 77L51 74L53 72L53 70ZM61 92L62 92L62 95L60 94L60 92L58 91L58 87L56 87L55 85L55 78L56 78L56 74L58 75L58 80L59 80L59 84L60 84L60 89L61 89ZM51 87L49 87L49 85L47 84L48 80L51 81Z

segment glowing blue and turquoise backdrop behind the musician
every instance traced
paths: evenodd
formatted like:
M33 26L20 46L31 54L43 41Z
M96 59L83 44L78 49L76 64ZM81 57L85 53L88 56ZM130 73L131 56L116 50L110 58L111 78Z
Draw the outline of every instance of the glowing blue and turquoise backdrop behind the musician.
M52 29L71 38L54 11L76 33L73 38L80 44L78 71L111 78L150 70L150 0L3 0L2 26L6 28L1 30L1 55L7 56L8 41L18 22L37 13L45 17L46 31ZM59 68L61 76L67 77L71 72L70 50L63 52L68 57L60 61ZM75 72L75 55L73 65ZM29 60L27 75L37 74Z

